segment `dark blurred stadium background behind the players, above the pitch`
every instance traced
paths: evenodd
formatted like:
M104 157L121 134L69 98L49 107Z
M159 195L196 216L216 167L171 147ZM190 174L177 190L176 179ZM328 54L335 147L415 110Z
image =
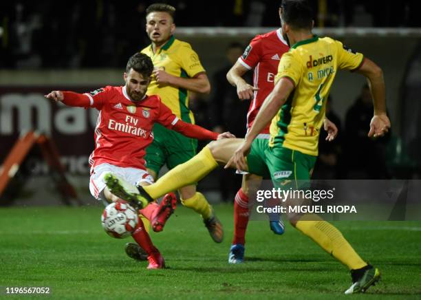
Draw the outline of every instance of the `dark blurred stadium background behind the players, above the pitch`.
M152 2L0 3L0 162L23 133L45 133L56 144L78 198L95 203L88 189L88 156L94 147L96 111L56 105L43 95L52 89L87 92L122 85L127 58L149 44L144 18ZM207 128L224 126L217 124L213 113L215 74L230 64L226 57L230 45L246 47L255 34L279 26L279 1L230 0L224 2L224 8L213 2L166 2L177 8L176 38L191 43L213 85L209 96L191 97L197 123ZM363 76L338 74L331 109L341 123L341 133L332 148L322 149L326 160L316 169L319 178L420 178L421 21L417 2L382 1L380 8L378 1L313 1L316 34L340 39L382 67L392 122L391 135L384 141L373 142L357 132L356 144L350 144L352 128L347 126L354 128L360 122L365 134L368 131L364 120L356 120L357 125L347 122L350 107L363 96L365 81ZM223 95L228 102L235 97L235 89ZM235 120L241 126L245 121L245 115ZM361 167L347 163L361 151L369 153L372 163L364 162ZM215 171L201 183L201 189L214 202L229 202L240 179L221 180L220 176L226 175ZM53 182L41 152L34 148L1 195L0 206L61 204ZM222 186L223 182L229 186Z

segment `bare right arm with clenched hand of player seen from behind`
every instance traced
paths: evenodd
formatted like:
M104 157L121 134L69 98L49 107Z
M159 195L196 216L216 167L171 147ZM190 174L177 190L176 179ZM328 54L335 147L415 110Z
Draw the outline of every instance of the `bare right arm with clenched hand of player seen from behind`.
M369 137L384 136L390 128L386 112L386 88L382 69L373 61L365 58L356 72L363 74L369 81L369 88L374 104L374 116L370 122Z

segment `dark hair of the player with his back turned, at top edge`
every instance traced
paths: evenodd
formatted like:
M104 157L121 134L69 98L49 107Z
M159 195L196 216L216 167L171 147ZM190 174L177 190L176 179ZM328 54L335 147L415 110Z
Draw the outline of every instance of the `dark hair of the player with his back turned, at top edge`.
M282 0L281 17L293 29L312 29L313 11L307 0Z

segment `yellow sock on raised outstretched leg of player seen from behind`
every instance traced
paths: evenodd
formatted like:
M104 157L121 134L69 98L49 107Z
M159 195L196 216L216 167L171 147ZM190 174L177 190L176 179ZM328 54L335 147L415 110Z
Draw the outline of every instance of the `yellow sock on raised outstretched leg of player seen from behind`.
M191 160L184 162L184 164L179 164L154 184L143 186L143 189L153 199L157 199L166 193L177 191L183 186L188 186L201 180L217 166L215 158L213 158L210 149L206 146Z

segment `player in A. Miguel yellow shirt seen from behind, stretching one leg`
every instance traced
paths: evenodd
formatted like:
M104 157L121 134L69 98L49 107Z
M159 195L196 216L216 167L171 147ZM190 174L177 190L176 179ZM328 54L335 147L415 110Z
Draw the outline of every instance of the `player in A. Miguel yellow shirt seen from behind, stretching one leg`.
M312 10L307 1L283 0L279 16L283 34L292 46L290 52L283 54L274 89L246 138L211 142L195 158L166 173L155 184L140 189L140 194L127 193L124 182L107 178L107 186L114 194L128 200L143 199L142 194L159 197L177 186L200 180L218 164L225 163L226 167L257 175L269 173L275 187L283 187L285 180L297 184L298 180L310 179L325 100L339 69L358 72L368 79L374 102L368 136L376 138L387 133L390 121L380 67L334 39L314 36ZM255 139L270 120L270 141ZM329 222L305 214L294 215L290 223L351 270L352 286L345 294L365 292L380 279L378 269L361 259Z

